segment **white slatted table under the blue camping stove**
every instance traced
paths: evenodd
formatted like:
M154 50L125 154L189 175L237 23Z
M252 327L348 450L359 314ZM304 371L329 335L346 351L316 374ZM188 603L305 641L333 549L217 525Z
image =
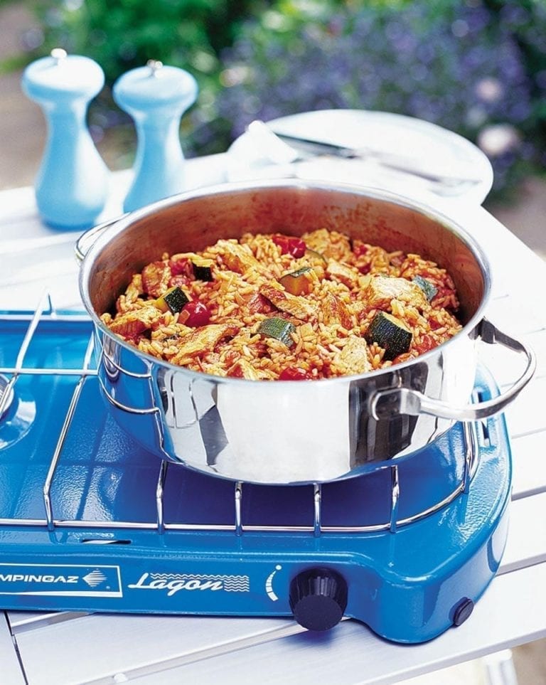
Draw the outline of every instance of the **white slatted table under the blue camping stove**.
M195 186L221 181L224 161L222 155L188 161L188 178ZM114 176L104 218L120 213L128 180L127 172ZM354 620L314 638L289 619L0 612L3 685L134 678L200 685L392 683L546 636L546 265L483 208L437 202L487 246L488 317L530 342L538 358L535 378L507 413L514 463L508 546L471 618L427 644L406 647ZM76 237L41 224L31 188L0 192L0 308L36 305L45 285L56 307L75 306ZM489 348L483 354L498 382L509 383L511 358Z

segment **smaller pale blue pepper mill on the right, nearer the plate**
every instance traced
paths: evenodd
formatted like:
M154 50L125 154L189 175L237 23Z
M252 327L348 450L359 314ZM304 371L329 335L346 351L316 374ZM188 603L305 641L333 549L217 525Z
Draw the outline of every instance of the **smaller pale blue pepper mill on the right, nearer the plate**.
M183 191L184 155L180 144L180 119L196 101L198 85L183 69L149 60L145 67L120 76L112 94L137 127L134 179L124 201L124 211Z

